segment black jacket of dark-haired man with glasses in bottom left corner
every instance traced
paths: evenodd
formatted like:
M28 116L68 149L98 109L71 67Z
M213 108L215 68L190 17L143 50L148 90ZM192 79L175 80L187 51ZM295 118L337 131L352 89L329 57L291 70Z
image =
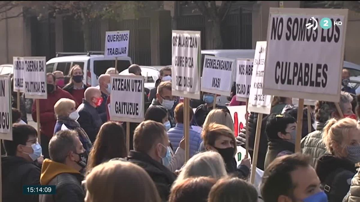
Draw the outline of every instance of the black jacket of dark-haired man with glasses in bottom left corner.
M2 156L3 202L38 202L39 195L24 195L23 185L40 185L40 167L18 156Z

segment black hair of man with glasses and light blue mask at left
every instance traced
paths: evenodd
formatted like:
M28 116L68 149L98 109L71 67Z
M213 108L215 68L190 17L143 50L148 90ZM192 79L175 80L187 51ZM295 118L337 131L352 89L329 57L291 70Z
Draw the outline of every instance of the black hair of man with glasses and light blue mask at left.
M3 140L6 154L15 156L18 145L26 145L30 136L37 137L34 127L27 124L13 124L13 141Z

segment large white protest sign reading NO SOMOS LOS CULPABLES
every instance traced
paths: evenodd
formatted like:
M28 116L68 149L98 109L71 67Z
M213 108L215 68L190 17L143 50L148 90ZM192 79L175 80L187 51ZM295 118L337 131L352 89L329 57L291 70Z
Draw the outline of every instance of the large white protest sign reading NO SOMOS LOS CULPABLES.
M338 102L347 13L270 8L264 93ZM308 23L313 25L309 29Z

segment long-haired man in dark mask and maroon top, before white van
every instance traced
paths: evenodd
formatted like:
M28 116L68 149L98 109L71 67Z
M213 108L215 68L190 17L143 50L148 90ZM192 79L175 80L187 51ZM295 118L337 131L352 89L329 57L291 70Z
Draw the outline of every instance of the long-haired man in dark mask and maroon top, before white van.
M82 99L84 99L84 92L86 91L86 88L89 87L82 82L84 79L84 72L79 65L74 65L70 69L69 76L71 77L70 83L68 83L63 89L74 96L75 101L80 104Z

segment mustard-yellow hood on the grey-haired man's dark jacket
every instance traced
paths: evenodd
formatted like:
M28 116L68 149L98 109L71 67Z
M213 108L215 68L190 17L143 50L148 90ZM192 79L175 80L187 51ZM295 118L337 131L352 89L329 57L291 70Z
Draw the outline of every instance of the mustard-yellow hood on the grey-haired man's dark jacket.
M80 174L79 171L69 167L65 164L61 164L50 159L45 159L42 162L40 184L47 185L57 175L61 173Z

